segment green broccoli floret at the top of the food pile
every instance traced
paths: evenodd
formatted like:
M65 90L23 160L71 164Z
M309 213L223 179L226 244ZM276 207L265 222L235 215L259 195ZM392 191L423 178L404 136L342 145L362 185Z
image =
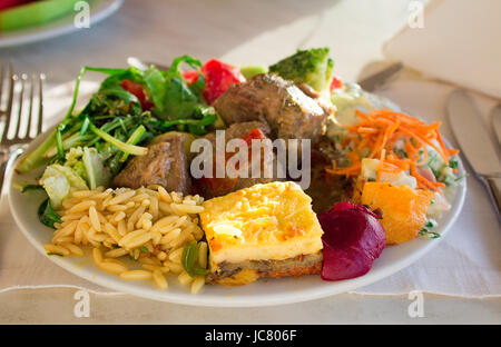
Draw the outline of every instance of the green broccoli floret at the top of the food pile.
M334 61L328 57L328 48L297 50L295 54L271 66L269 72L275 72L297 85L307 83L318 92L328 92L334 68Z

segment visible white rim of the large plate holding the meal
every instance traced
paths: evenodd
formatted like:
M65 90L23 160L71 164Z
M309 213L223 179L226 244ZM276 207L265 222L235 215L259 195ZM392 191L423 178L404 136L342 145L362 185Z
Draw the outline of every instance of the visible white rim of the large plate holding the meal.
M47 133L30 143L28 151L36 148L46 136ZM32 181L42 170L43 168L37 172L22 176L13 174L10 181ZM461 161L459 162L459 175L464 175ZM43 256L49 257L50 260L68 271L120 293L176 304L219 307L256 307L313 300L367 286L393 275L410 266L440 242L458 218L466 194L464 181L463 186L459 186L454 191L451 210L438 220L439 227L434 231L441 232L441 238L416 238L399 246L387 247L383 250L381 257L374 261L372 269L362 277L341 281L324 281L320 276L262 279L242 287L206 286L203 293L191 295L189 294L189 287L177 284L177 279L174 277L169 280L169 289L164 291L157 289L151 281L124 281L115 275L102 272L92 265L90 256L85 258L47 256L43 244L50 242L53 229L41 225L37 217L37 209L46 196L42 192L35 191L21 194L12 185L9 189L11 211L21 231ZM90 255L90 251L87 251L87 254Z

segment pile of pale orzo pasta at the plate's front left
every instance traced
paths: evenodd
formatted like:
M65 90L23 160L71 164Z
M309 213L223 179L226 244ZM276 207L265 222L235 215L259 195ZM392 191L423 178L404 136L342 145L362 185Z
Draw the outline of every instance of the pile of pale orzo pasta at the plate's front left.
M168 288L165 275L171 274L198 293L205 276L189 278L181 255L185 245L199 241L200 264L207 264L197 216L204 211L203 201L158 186L75 191L63 200L58 211L61 222L55 225L52 242L45 248L49 254L81 257L81 247L91 247L94 264L102 271L124 280L151 280L160 289ZM137 266L129 268L120 257L137 260Z

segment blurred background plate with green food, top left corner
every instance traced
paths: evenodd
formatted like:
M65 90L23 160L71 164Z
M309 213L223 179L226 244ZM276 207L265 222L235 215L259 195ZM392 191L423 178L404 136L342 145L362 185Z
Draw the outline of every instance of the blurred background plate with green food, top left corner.
M75 26L77 0L36 1L0 12L0 48L46 40L80 30ZM116 12L124 0L87 0L90 28ZM82 30L86 30L85 28Z

